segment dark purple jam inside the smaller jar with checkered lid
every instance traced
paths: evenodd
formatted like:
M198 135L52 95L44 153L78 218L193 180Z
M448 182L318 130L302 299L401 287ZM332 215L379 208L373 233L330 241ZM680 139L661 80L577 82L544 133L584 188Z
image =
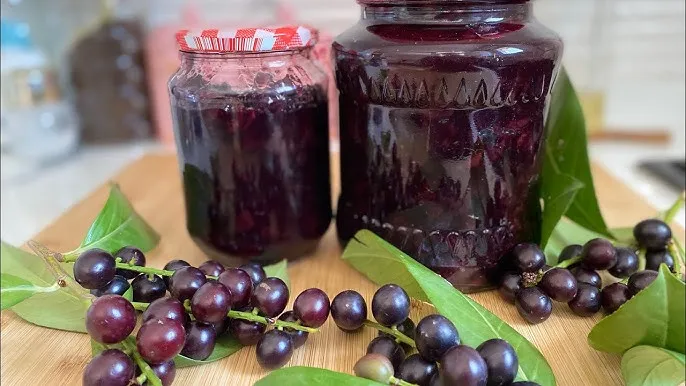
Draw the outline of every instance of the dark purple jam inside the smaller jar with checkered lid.
M288 78L265 86L171 89L188 230L213 256L294 258L331 221L326 92Z

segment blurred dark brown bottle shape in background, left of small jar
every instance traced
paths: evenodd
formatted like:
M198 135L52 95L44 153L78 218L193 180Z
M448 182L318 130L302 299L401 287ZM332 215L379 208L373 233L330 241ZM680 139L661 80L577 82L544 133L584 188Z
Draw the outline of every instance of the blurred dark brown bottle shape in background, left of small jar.
M84 142L127 142L152 136L144 28L133 3L108 2L95 27L68 54Z

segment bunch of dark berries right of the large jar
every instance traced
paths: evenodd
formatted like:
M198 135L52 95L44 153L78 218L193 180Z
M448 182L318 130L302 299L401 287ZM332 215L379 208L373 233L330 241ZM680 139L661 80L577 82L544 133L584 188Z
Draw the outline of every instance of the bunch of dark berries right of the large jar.
M597 238L585 245L569 245L554 267L536 244L516 245L505 262L499 292L516 305L519 314L537 324L550 316L552 301L567 303L577 315L591 316L601 308L615 312L632 296L648 287L657 277L661 264L674 271L674 257L669 252L672 231L665 222L644 220L633 230L635 246L615 246ZM645 259L645 270L639 270ZM603 287L598 271L607 271L620 279Z

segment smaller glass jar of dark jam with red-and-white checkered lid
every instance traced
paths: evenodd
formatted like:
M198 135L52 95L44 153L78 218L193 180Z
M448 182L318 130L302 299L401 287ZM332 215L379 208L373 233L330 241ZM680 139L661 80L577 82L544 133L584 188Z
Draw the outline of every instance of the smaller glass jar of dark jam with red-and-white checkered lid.
M190 235L226 264L312 251L331 221L327 77L304 27L180 31L169 81Z

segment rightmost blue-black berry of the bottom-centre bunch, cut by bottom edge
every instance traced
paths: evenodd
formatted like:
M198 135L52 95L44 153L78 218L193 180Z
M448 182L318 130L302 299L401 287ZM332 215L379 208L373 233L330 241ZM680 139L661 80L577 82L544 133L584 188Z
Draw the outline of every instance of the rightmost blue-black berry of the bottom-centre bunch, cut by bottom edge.
M488 367L488 386L504 386L514 381L519 369L517 353L502 339L489 339L476 348Z

